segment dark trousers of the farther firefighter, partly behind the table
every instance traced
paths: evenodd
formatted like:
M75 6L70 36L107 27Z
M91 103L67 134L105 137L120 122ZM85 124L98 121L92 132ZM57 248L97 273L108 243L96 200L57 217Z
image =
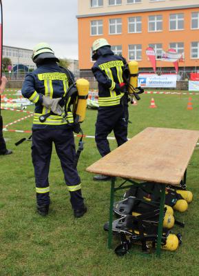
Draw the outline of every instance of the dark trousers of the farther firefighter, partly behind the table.
M110 152L107 136L112 130L118 146L127 141L128 110L127 106L100 107L96 119L95 141L101 156Z

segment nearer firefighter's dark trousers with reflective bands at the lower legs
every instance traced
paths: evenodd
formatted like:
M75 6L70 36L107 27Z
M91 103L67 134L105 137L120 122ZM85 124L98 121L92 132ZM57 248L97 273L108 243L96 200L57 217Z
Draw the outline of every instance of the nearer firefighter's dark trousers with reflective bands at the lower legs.
M56 153L61 161L65 184L70 192L70 202L73 209L83 206L81 195L81 179L74 168L76 155L74 135L72 130L49 128L32 130L32 163L36 183L36 201L38 206L50 204L50 186L48 174L54 142Z

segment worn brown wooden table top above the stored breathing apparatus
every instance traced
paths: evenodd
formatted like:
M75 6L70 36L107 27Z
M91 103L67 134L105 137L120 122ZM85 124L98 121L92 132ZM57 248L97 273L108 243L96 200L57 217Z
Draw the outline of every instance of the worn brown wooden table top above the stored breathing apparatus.
M86 170L176 186L183 178L198 138L197 130L145 128Z

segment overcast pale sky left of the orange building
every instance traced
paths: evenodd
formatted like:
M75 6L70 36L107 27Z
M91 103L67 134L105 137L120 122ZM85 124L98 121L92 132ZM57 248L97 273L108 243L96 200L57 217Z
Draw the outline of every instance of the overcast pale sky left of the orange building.
M78 59L77 0L2 0L3 45L48 42L56 56Z

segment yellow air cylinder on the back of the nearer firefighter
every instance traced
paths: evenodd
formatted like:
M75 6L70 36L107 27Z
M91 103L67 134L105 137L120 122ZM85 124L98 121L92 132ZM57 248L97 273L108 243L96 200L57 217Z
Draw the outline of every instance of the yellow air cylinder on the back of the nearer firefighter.
M76 81L76 88L78 90L78 103L76 108L76 117L78 122L82 123L85 119L85 110L87 106L87 95L89 91L89 81L87 79L78 79Z

